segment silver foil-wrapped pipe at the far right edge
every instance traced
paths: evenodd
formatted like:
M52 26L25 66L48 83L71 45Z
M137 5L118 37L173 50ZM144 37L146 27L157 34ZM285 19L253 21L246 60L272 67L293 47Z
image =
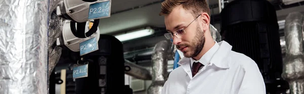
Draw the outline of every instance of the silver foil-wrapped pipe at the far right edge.
M289 82L290 93L304 93L303 15L288 14L285 22L286 56L282 77Z

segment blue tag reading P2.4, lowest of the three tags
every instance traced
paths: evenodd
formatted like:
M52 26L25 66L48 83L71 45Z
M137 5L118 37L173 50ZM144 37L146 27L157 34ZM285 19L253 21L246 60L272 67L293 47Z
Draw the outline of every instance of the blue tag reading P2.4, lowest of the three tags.
M88 77L88 64L73 67L73 79Z

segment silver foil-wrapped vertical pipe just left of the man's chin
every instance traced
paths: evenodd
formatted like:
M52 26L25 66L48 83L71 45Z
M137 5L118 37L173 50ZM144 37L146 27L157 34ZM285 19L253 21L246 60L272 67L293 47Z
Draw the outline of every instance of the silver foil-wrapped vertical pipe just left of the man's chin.
M165 81L168 79L168 50L170 45L166 40L156 43L151 56L152 62L152 83L148 87L148 94L159 94L162 91Z

